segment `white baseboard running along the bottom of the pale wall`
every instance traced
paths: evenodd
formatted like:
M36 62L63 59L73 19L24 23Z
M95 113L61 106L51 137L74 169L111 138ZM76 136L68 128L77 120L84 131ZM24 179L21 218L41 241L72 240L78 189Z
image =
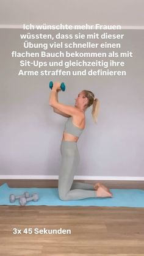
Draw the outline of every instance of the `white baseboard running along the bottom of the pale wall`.
M58 175L0 175L0 180L58 180ZM144 177L75 176L74 180L128 180L144 181Z

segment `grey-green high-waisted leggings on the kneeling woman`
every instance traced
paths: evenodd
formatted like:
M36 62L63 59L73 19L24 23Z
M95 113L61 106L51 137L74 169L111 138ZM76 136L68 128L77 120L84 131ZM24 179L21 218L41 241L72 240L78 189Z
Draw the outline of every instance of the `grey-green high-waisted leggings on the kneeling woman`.
M78 200L87 197L96 197L93 185L74 182L79 164L79 151L76 142L62 141L60 145L62 162L59 172L59 198L61 200Z

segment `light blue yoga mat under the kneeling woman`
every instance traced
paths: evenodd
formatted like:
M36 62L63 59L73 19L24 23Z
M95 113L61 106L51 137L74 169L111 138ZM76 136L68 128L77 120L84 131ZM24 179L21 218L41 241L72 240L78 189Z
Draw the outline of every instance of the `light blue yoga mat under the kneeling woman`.
M59 199L57 188L9 188L7 183L0 186L0 205L20 205L19 200L9 202L10 194L19 196L24 192L30 196L37 193L37 202L27 202L26 205L50 205L50 206L98 206L98 207L144 207L144 190L142 189L110 189L112 198L88 198L81 200L63 201Z

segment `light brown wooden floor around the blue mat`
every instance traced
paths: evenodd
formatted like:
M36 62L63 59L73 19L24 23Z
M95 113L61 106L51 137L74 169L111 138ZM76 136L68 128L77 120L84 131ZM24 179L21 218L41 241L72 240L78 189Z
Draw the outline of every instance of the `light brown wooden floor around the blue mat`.
M17 187L16 182L7 181L14 187ZM30 186L29 182L21 187ZM42 187L44 181L35 182ZM143 189L142 181L126 182L121 182L121 188ZM5 181L1 180L0 185L2 183ZM50 186L50 181L48 183ZM56 183L53 181L51 187ZM103 181L103 184L108 185L108 182ZM111 185L109 181L109 188L119 186L119 181L112 181ZM34 232L35 228L58 230L60 227L71 230L71 235L23 233L26 228ZM13 235L13 228L21 230L21 235ZM0 241L2 256L144 256L144 208L1 206Z

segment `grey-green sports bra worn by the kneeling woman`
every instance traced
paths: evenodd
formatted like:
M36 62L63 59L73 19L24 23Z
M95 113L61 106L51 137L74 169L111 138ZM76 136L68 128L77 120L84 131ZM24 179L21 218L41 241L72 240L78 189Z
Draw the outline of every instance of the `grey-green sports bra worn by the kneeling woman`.
M72 134L73 136L79 137L84 129L80 129L72 122L72 117L69 117L65 123L64 131L65 133Z

